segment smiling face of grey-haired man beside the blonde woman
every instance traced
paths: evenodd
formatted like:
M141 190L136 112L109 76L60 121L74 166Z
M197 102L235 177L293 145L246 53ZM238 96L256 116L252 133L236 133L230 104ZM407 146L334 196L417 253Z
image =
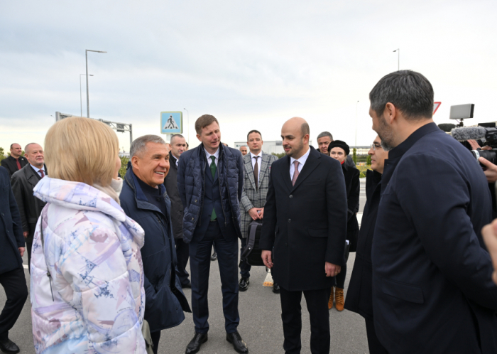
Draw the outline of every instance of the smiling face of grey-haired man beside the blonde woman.
M169 148L164 144L148 142L140 155L131 158L131 164L141 181L156 188L164 183L169 172Z

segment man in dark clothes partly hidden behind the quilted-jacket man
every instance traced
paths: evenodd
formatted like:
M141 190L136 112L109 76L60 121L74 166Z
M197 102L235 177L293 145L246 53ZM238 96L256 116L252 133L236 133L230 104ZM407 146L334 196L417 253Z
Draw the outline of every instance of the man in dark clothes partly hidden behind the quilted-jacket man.
M171 222L173 222L173 234L176 245L176 257L178 258L178 269L176 274L180 279L182 288L191 288L190 274L186 270L188 263L188 244L183 241L183 204L181 202L180 191L178 191L178 164L180 156L186 150L186 140L180 134L171 136L171 151L169 152L169 173L165 176L164 186L171 200Z

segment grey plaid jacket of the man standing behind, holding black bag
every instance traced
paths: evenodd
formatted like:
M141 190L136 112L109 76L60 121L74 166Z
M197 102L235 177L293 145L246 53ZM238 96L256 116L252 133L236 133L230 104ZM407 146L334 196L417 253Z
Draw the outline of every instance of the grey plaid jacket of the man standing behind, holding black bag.
M259 173L259 186L256 188L256 181L253 178L253 168L251 154L244 156L244 190L241 193L240 215L241 215L241 237L246 238L249 232L249 224L252 218L249 215L251 208L263 208L266 204L266 195L269 187L269 173L271 165L278 158L274 155L262 153L261 173Z

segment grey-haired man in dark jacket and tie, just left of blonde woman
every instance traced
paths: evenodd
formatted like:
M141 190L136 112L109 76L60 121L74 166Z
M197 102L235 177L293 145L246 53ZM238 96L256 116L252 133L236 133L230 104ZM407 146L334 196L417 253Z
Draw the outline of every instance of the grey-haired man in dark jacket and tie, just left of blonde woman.
M28 247L28 266L31 272L31 246L33 246L33 236L35 235L36 222L40 217L41 210L45 203L33 195L38 181L47 175L43 149L36 143L26 145L24 149L28 164L21 170L13 173L11 178L13 195L16 197L21 222L23 225L23 235L26 238Z

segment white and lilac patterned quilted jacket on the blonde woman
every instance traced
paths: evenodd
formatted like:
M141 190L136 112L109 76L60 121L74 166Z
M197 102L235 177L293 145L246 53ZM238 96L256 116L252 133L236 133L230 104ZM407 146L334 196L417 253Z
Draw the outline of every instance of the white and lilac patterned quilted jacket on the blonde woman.
M45 177L33 192L47 203L31 257L36 353L146 353L140 225L85 183Z

